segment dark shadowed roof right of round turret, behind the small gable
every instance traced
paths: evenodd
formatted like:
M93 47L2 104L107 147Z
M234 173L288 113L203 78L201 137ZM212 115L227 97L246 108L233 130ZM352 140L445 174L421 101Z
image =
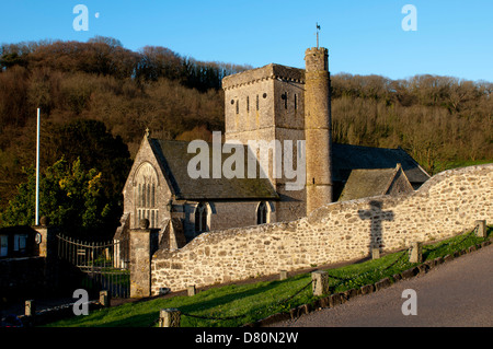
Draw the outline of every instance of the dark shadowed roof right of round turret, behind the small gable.
M346 182L353 170L394 170L402 165L410 183L423 184L429 175L403 149L372 148L352 144L332 144L332 179Z

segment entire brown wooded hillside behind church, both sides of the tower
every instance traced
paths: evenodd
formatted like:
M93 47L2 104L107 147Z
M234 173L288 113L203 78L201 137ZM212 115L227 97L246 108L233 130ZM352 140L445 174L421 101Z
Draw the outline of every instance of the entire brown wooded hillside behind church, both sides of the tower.
M223 130L221 79L251 68L202 62L164 47L131 51L106 37L88 43L4 44L0 67L0 209L26 181L22 167L35 164L37 107L43 117L43 168L61 155L76 160L69 154L70 142L82 149L88 136L70 140L67 135L80 120L101 121L84 126L84 135L98 130L114 138L105 144L93 139L91 149L111 153L104 147L123 144L133 156L146 127L168 139L207 138L210 130ZM402 147L431 173L450 163L492 160L492 92L490 82L449 77L393 81L334 74L333 139ZM124 153L118 150L119 155ZM83 165L112 166L96 160ZM126 171L123 165L116 167ZM98 170L111 173L114 168ZM106 178L114 182L114 193L121 190L125 176Z

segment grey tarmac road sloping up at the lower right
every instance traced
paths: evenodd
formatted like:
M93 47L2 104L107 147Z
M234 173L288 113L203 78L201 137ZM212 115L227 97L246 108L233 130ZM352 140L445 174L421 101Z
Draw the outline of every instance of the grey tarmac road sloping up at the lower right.
M492 271L493 245L489 245L423 276L270 327L492 327ZM416 292L416 315L402 313L406 289Z

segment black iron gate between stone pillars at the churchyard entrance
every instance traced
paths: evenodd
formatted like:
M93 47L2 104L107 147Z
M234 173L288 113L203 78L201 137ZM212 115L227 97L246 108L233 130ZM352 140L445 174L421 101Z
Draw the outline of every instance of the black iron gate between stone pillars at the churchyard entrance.
M57 244L58 258L81 276L80 288L107 290L113 298L129 296L128 241L83 242L58 234Z

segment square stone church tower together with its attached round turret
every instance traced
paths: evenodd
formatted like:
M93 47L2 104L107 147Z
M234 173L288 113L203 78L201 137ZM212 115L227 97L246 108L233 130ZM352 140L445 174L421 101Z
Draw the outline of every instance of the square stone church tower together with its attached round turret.
M279 194L274 209L277 221L305 217L333 200L328 56L326 48L309 48L305 70L271 63L222 80L226 140L279 142L268 150L266 168ZM298 149L297 140L306 140L306 188L287 190L290 181L273 176L273 166L276 154L285 151L285 141L291 141L297 168L296 152L305 151ZM285 165L283 158L283 170Z

